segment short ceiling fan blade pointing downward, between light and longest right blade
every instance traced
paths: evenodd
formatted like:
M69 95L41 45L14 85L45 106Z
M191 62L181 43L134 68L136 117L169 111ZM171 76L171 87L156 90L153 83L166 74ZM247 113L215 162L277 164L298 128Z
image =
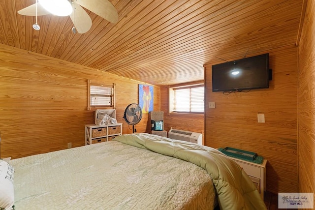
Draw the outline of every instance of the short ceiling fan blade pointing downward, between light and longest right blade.
M91 29L92 20L79 4L73 2L73 12L69 16L78 33L85 33Z

